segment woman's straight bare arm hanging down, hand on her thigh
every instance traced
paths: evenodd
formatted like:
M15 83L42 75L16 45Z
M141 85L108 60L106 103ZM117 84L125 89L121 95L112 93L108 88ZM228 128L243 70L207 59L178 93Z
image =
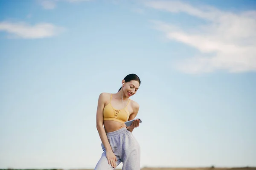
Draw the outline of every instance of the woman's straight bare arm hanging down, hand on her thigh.
M105 97L108 96L105 93L101 93L99 95L98 99L98 107L97 107L97 113L96 113L96 127L99 133L99 137L102 141L102 144L104 145L106 149L106 157L108 159L108 164L111 164L112 167L116 168L116 156L112 151L111 145L108 142L108 138L105 132L105 129L103 127L103 109L105 106Z

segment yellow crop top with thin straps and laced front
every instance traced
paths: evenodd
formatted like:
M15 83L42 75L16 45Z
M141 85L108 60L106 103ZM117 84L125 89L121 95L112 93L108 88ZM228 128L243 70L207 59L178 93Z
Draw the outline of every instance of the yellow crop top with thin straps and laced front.
M104 120L113 120L121 123L126 122L130 116L129 111L127 110L127 105L130 102L130 99L127 102L127 105L125 106L125 108L121 110L113 108L113 106L111 105L111 99L112 99L112 94L110 97L110 102L103 109Z

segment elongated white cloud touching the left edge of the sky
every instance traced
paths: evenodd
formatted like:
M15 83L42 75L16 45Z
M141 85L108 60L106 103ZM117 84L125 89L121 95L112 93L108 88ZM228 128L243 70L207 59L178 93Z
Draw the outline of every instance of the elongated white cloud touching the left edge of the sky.
M54 26L50 23L38 23L34 26L26 23L1 22L0 31L6 31L11 36L24 39L36 39L52 37L64 31L64 28Z

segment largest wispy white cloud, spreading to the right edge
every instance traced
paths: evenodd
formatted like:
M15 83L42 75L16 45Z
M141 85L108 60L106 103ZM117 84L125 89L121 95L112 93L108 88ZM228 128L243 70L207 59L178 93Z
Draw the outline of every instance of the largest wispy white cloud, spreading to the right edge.
M186 73L217 70L229 72L256 71L256 11L239 14L221 11L211 6L195 7L180 1L148 1L146 6L172 13L183 12L207 21L189 31L154 21L166 37L183 42L201 51L201 55L175 64Z

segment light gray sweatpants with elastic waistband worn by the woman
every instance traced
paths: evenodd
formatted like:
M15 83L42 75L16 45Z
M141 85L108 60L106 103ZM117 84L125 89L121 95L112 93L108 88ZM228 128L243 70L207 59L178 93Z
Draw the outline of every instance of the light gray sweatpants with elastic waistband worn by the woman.
M133 134L126 127L106 134L116 155L116 166L122 162L122 170L140 170L140 145ZM103 153L94 170L113 170L108 164L105 147L103 144L101 146Z

